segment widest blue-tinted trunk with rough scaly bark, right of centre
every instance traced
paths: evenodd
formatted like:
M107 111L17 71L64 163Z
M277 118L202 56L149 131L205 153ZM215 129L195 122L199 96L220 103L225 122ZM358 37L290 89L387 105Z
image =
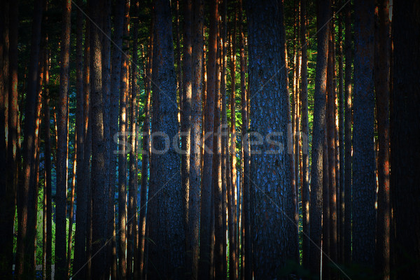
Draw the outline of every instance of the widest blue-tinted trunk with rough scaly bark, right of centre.
M281 43L284 42L281 36L285 35L283 7L282 3L247 1L246 13L251 131L269 137L263 144L251 146L254 276L255 279L274 279L279 277L286 260L294 258L297 246L295 225L290 223L294 209L289 173L292 155L287 153L286 132L290 122L287 79L286 71L279 71L286 63L285 45ZM255 138L251 140L255 141ZM245 270L245 276L251 279L252 275L247 275Z

